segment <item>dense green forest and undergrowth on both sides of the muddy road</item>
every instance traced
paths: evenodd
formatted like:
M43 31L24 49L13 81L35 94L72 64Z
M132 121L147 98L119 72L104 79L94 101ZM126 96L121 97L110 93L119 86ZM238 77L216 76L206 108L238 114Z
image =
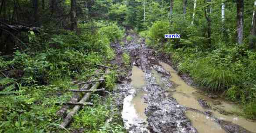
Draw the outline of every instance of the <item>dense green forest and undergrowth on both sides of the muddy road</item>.
M97 65L116 68L113 43L131 30L202 90L242 105L256 119L254 0L0 0L0 133L125 133L113 96L93 94L93 106L61 126L69 101ZM165 34L180 38L164 38ZM129 41L129 36L126 40ZM129 55L123 54L131 65ZM104 72L101 70L101 73ZM105 121L108 116L113 120Z

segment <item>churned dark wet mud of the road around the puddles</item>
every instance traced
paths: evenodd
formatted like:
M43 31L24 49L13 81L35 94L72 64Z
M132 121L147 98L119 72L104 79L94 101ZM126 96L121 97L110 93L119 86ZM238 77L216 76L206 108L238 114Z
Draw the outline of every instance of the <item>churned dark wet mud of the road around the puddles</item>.
M123 100L129 95L136 95L138 91L145 92L144 101L147 103L145 115L146 124L143 121L138 123L128 123L124 119L125 127L129 133L198 133L191 121L186 116L186 110L202 113L214 119L227 133L251 133L241 126L224 120L217 119L210 112L202 112L197 109L187 108L174 99L171 95L166 95L166 88L171 88L173 83L169 81L171 76L155 58L155 51L147 48L144 41L137 34L129 34L133 40L121 47L120 44L112 44L115 48L117 57L114 61L119 67L123 67L119 61L122 56L120 53L127 51L130 54L132 65L143 70L146 85L139 90L133 88L130 84L131 68L127 69L128 75L120 76L120 84L117 85L115 92L116 103L120 109L123 108ZM141 42L138 42L141 40ZM119 62L119 63L118 63ZM162 74L162 81L165 87L162 87L156 81L151 70L156 70ZM173 89L175 91L175 89ZM204 105L204 103L201 104ZM201 105L200 104L200 105Z

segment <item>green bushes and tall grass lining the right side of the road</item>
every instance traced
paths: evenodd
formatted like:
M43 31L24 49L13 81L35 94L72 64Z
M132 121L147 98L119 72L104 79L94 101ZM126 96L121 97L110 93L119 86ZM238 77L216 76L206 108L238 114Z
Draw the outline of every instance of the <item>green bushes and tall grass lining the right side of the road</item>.
M222 3L221 0L205 4L199 0L194 11L192 3L187 2L186 14L180 10L184 5L175 1L172 17L168 17L166 11L165 17L154 21L140 34L151 48L169 55L173 66L180 73L189 74L199 88L240 102L244 110L242 115L256 119L256 44L252 34L255 27L251 26L252 3L245 1L244 9L248 14L243 14L243 43L238 42L236 34L237 18L234 15L238 7L234 2ZM225 20L221 20L222 4L227 5ZM209 6L213 11L204 14ZM200 16L210 17L211 27L206 17ZM175 33L181 34L181 38L164 38L164 34Z

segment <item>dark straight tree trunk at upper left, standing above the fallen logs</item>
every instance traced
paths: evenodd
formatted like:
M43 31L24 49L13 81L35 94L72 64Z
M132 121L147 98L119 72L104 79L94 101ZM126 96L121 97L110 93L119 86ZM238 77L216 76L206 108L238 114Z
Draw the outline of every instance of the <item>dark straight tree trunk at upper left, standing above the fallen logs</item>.
M71 30L77 33L77 15L76 15L76 0L71 0L71 10L70 10L70 18L71 18Z

